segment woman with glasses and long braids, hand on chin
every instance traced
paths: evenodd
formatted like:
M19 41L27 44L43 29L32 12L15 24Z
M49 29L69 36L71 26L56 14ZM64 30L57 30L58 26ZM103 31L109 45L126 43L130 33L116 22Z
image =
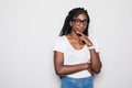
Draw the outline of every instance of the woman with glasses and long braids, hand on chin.
M84 8L68 12L54 44L54 66L62 88L92 88L92 76L101 62L98 45L88 36L89 15Z

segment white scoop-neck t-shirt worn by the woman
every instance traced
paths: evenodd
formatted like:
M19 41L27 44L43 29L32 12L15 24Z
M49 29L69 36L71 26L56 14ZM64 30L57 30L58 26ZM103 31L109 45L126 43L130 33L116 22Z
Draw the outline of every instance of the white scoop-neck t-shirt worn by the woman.
M96 52L99 52L96 41L91 38L89 40L94 43ZM75 50L65 35L58 36L55 40L53 51L58 51L64 54L64 65L76 65L80 63L90 62L90 52L88 50L88 46L85 45L81 50ZM73 78L84 78L84 77L89 77L91 75L88 70L81 70L66 76Z

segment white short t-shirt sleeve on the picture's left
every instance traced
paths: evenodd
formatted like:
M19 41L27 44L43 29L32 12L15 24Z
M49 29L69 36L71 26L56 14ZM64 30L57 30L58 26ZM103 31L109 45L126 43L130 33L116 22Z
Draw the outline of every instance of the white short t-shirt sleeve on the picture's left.
M58 36L55 41L54 41L54 45L53 45L53 51L58 51L64 53L64 38L63 36Z

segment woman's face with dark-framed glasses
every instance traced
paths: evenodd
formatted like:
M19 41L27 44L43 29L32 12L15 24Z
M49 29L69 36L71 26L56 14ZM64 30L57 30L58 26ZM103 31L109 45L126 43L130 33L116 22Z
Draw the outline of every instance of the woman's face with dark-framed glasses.
M87 16L85 13L79 14L74 20L70 21L72 31L74 32L84 32L87 26Z

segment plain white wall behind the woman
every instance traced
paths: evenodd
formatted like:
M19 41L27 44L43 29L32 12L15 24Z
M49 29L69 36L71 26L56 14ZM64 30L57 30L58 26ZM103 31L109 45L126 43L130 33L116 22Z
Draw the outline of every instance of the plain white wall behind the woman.
M131 0L0 0L0 88L59 88L53 43L75 7L88 10L102 70L95 88L132 88Z

